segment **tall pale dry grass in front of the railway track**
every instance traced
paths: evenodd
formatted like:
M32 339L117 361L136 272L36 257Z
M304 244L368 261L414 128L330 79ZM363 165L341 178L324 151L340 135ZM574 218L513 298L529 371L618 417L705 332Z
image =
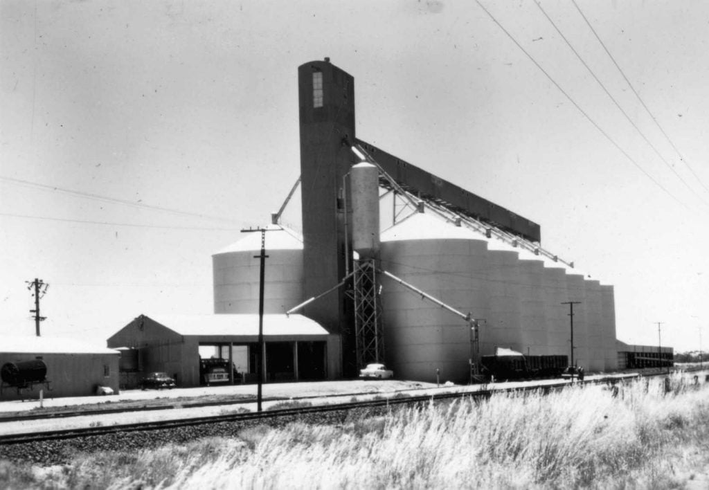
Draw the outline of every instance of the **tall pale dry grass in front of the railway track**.
M65 467L0 463L2 488L709 488L709 383L674 375L501 394L341 425L259 426ZM615 395L615 396L614 396Z

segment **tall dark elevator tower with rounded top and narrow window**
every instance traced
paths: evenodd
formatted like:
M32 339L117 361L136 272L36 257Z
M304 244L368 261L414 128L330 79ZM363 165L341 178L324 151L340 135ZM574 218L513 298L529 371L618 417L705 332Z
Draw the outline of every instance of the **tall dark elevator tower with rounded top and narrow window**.
M345 210L349 191L343 182L355 157L354 78L330 64L313 61L298 67L303 209L303 283L309 298L327 291L346 275ZM352 311L342 288L306 306L303 313L330 333L347 333ZM343 336L347 360L347 335ZM347 364L347 361L345 362Z

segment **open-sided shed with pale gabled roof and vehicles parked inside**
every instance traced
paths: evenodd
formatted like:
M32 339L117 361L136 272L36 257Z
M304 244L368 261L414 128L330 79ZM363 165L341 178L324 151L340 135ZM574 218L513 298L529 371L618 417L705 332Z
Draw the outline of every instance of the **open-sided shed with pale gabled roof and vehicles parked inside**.
M259 340L259 316L252 314L140 315L108 338L108 347L120 349L133 359L136 379L148 372L166 372L178 386L204 384L200 347L216 347L232 365L228 382L255 382ZM264 381L288 382L330 379L340 357L340 338L330 335L316 321L301 315L268 314L263 318ZM233 359L244 352L241 366ZM329 355L328 355L329 353ZM128 366L130 364L130 366ZM240 372L234 372L239 368ZM130 379L128 373L125 379ZM132 386L129 386L132 387Z

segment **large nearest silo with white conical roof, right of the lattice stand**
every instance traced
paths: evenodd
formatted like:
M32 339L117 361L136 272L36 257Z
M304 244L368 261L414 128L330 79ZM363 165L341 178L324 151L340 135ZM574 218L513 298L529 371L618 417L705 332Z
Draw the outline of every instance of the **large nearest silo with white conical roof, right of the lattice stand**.
M487 318L486 243L466 228L415 213L381 234L381 268L474 318ZM400 379L467 382L473 344L464 318L384 279L387 363ZM484 335L484 334L481 334Z

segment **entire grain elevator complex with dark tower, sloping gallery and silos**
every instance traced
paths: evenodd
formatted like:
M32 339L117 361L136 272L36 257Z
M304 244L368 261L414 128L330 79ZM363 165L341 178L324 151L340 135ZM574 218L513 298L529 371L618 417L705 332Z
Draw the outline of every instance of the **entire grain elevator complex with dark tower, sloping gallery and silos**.
M496 347L569 355L567 301L574 359L617 367L613 286L545 250L537 223L357 138L354 78L328 58L298 67L298 101L302 235L270 225L264 308L339 335L330 377L376 361L464 382ZM255 311L258 245L213 256L215 313Z

